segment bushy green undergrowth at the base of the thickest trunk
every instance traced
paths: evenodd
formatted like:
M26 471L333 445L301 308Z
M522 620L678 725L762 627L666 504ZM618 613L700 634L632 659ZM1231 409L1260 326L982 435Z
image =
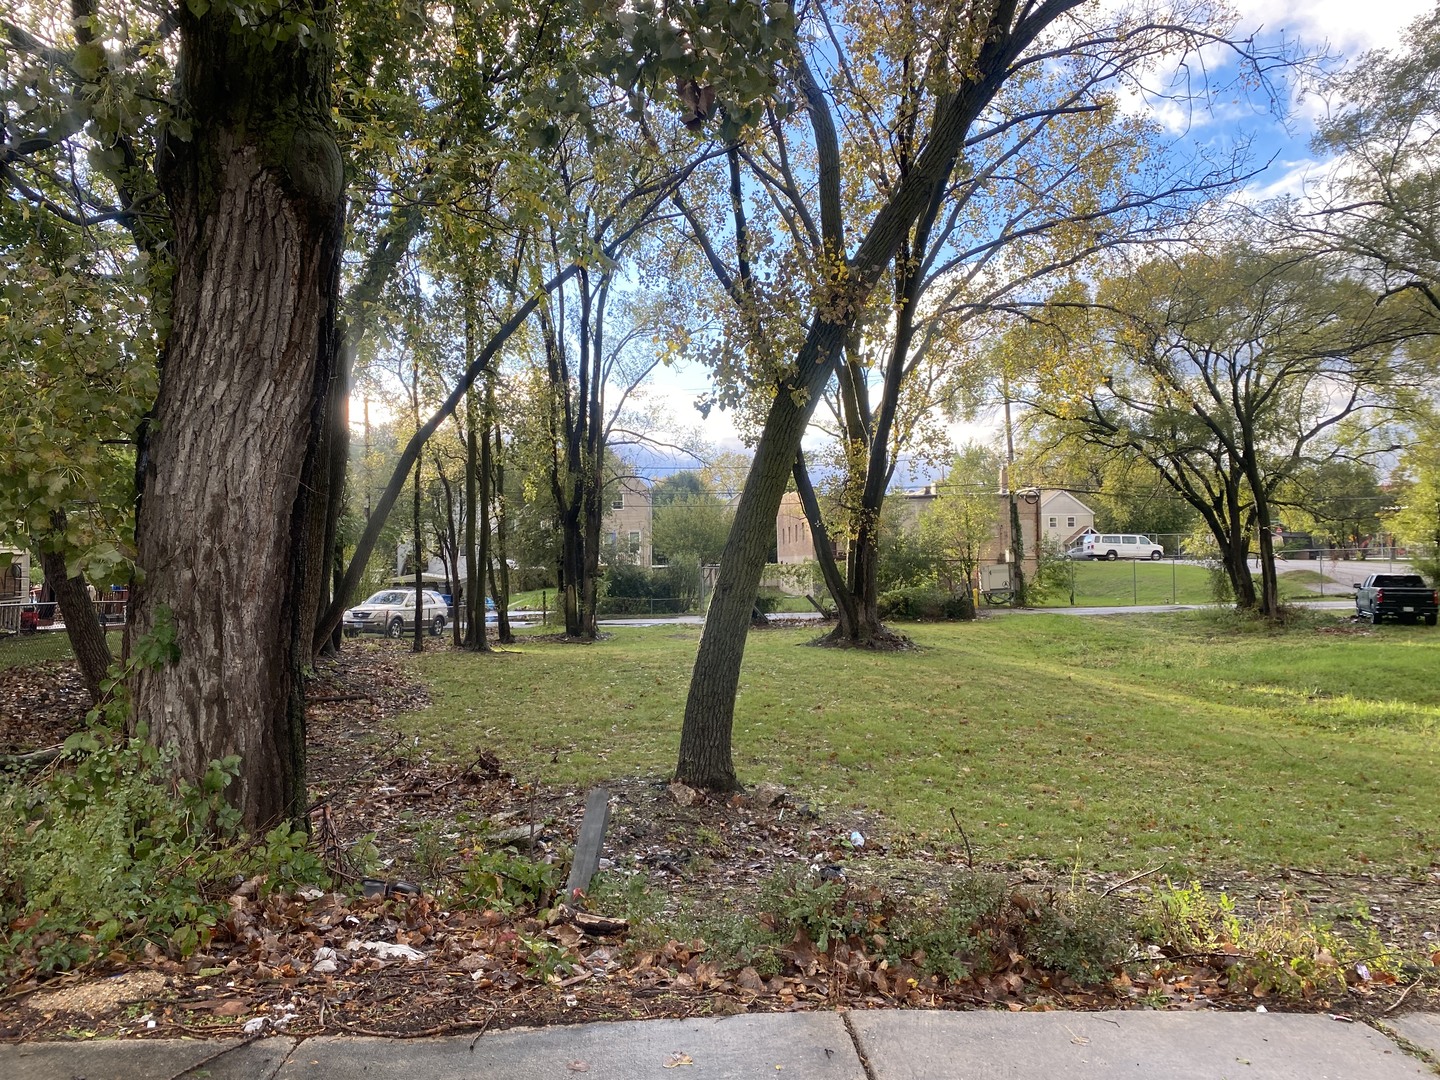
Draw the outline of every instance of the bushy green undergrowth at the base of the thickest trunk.
M7 978L145 942L186 956L209 943L238 876L265 874L271 888L328 884L304 832L281 825L262 842L239 832L223 796L239 757L189 785L166 752L98 726L71 736L65 755L60 768L0 786Z

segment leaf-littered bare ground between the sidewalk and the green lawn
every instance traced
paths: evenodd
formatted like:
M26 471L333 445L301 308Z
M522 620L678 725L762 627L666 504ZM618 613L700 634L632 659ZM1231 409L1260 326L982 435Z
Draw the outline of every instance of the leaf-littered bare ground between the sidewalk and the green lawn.
M233 1037L354 1032L419 1037L514 1025L595 1020L724 1015L816 1008L1270 1008L1329 1009L1351 1017L1397 1007L1436 1005L1440 972L1411 972L1408 985L1362 979L1341 994L1282 1001L1263 985L1231 978L1234 958L1166 956L1162 950L1079 986L1037 968L1022 952L994 956L982 975L945 979L923 958L883 959L874 935L819 948L804 930L778 948L762 973L727 959L706 940L675 940L634 926L586 933L546 912L445 907L475 835L511 841L531 858L569 850L585 792L517 779L477 747L465 768L432 765L387 717L428 703L423 685L393 647L347 649L327 660L308 688L314 840L343 874L359 848L367 873L423 891L356 896L318 890L265 896L258 880L238 883L230 916L204 953L184 960L158 948L49 981L26 979L0 996L0 1038L75 1035ZM0 671L0 746L43 749L81 723L84 690L68 664ZM1024 896L1066 890L1113 893L1136 910L1149 881L1119 874L1053 874L1044 865L981 865L955 837L949 847L891 835L883 818L851 812L821 819L793 795L762 786L719 799L662 779L606 783L612 819L606 864L639 874L661 909L687 901L708 910L759 910L762 884L778 871L822 867L842 877L852 909L884 930L900 896L943 896L973 870L1005 876ZM857 837L858 834L858 837ZM861 842L855 842L860 840ZM531 847L533 844L533 847ZM562 867L563 870L563 867ZM1214 873L1214 871L1211 871ZM1236 871L1201 883L1240 910L1276 910L1296 900L1332 913L1368 909L1387 945L1411 956L1440 956L1440 880L1365 874ZM400 888L403 890L403 884ZM1027 917L1025 900L1011 919ZM609 914L598 912L598 914ZM773 919L770 920L773 923ZM1005 940L1005 927L992 927ZM1020 929L1020 927L1017 927Z

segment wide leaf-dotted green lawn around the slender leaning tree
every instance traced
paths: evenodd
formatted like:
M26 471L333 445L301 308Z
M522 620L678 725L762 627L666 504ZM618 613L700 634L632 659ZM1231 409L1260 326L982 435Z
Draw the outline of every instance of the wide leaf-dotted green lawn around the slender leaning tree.
M985 861L1405 873L1440 858L1440 634L1323 632L1345 625L1032 615L907 628L922 648L891 655L752 634L736 765L924 842L959 842L953 809ZM399 723L455 760L495 749L523 780L661 778L697 641L426 654L435 704Z

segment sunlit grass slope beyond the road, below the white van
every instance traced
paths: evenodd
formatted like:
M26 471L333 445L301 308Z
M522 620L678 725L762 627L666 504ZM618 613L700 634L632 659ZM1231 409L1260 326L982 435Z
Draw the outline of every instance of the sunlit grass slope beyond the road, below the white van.
M1119 605L1153 603L1214 603L1211 575L1204 566L1171 562L1092 562L1076 559L1074 606L1112 608ZM1286 600L1305 599L1348 599L1354 592L1332 582L1315 570L1287 570L1277 567L1280 598ZM1063 588L1047 596L1040 606L1068 608L1070 589Z

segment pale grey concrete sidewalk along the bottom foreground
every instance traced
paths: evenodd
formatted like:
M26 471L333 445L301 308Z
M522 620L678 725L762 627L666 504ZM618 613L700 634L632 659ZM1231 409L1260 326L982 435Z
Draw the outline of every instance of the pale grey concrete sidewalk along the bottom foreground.
M1433 1080L1440 1014L1387 1028L1276 1012L793 1012L422 1040L30 1043L0 1047L0 1077Z

